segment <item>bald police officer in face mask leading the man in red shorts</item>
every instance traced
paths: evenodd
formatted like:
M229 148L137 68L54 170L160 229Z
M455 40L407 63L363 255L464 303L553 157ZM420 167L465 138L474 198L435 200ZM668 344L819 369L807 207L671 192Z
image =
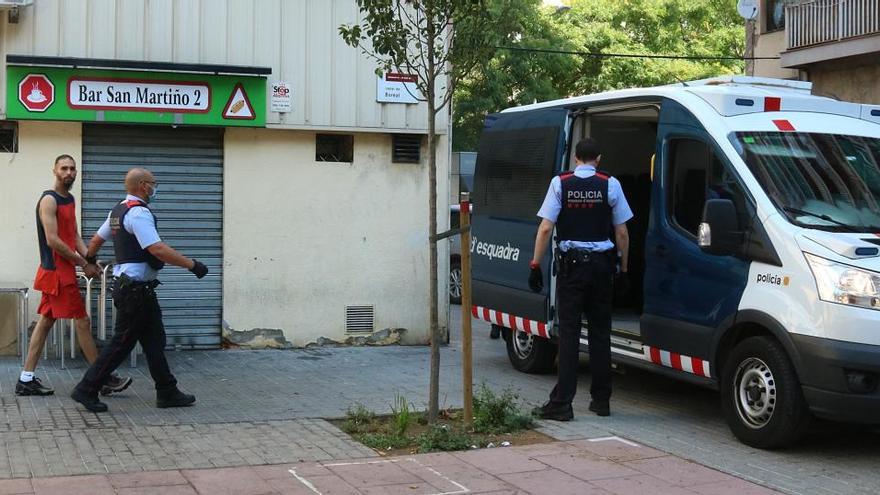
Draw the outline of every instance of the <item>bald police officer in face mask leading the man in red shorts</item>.
M177 388L177 380L165 359L165 327L156 298L159 285L156 277L166 263L186 268L197 278L207 275L208 267L183 256L159 238L156 217L148 206L156 198L158 186L149 170L131 169L125 176L125 189L128 191L125 201L113 208L92 237L86 257L93 262L104 242L113 238L116 254L113 339L70 396L89 411L106 411L107 405L98 400L98 390L140 342L156 383L156 406L189 406L196 401L195 396Z

